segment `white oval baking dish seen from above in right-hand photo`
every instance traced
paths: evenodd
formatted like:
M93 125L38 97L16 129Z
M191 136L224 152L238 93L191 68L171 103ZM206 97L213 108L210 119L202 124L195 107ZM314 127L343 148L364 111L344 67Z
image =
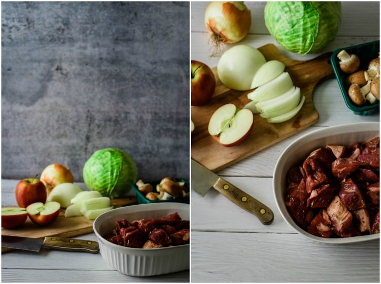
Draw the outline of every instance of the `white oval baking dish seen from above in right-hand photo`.
M288 170L300 164L315 149L326 145L350 145L355 142L364 143L379 136L378 122L359 122L344 125L330 126L311 131L291 143L279 157L273 175L273 191L277 207L286 221L295 231L306 238L321 243L347 244L379 239L378 234L347 237L322 238L314 236L300 228L289 214L284 195L286 192L286 174Z

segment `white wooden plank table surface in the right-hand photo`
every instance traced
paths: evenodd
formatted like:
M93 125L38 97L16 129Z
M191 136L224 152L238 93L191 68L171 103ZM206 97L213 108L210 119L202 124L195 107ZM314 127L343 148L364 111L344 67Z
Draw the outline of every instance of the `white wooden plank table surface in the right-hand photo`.
M250 34L238 44L256 48L275 44L287 57L307 60L282 49L264 23L263 2L245 2L252 13ZM191 3L191 58L217 66L204 26L208 3ZM379 39L379 2L342 3L342 23L336 40L322 53ZM313 93L319 120L217 174L269 206L275 214L263 225L215 190L204 198L192 194L192 282L379 282L379 240L351 245L324 245L297 234L282 219L273 197L272 176L282 151L301 135L322 127L379 121L379 114L359 116L349 110L336 80ZM218 159L218 157L216 157Z

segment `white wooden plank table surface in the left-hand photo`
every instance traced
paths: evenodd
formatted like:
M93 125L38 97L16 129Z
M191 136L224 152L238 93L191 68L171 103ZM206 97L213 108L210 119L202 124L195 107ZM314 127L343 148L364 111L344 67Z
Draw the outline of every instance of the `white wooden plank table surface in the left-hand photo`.
M15 187L18 182L2 180L2 206L17 204ZM77 184L86 189L83 183ZM76 238L97 240L94 233ZM133 277L111 268L100 253L43 248L40 252L14 250L3 253L2 282L189 282L189 270L151 277Z

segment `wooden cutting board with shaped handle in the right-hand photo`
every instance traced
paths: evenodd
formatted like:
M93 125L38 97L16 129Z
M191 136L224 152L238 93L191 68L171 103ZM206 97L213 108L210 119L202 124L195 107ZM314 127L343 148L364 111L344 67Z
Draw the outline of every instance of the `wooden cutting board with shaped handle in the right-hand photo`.
M330 65L330 53L323 54L308 61L292 60L284 56L273 44L258 48L266 60L279 60L286 66L295 86L306 97L299 113L292 119L282 123L269 123L259 114L254 115L254 127L250 135L241 143L233 147L220 145L208 132L209 120L214 111L220 106L233 103L242 108L250 100L249 91L236 91L225 87L218 78L217 68L213 68L216 76L216 90L210 102L203 106L192 107L192 121L195 130L192 133L192 159L218 172L238 161L241 161L275 143L314 124L319 117L313 101L314 88L322 81L334 78Z

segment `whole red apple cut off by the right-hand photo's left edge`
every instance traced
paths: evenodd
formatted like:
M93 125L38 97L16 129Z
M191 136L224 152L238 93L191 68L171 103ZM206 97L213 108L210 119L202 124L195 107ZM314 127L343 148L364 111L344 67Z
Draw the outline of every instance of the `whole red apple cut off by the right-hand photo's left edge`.
M212 69L203 62L190 61L191 105L203 105L213 96L216 78Z

